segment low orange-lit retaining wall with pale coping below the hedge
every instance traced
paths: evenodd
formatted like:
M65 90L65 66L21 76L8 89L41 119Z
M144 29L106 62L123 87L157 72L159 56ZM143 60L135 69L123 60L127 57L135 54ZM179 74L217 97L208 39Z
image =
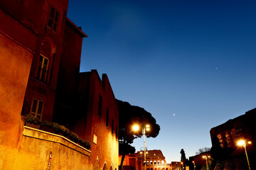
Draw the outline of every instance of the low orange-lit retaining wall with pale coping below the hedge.
M90 151L63 136L24 127L12 154L4 155L1 169L92 169ZM8 160L12 161L9 162Z

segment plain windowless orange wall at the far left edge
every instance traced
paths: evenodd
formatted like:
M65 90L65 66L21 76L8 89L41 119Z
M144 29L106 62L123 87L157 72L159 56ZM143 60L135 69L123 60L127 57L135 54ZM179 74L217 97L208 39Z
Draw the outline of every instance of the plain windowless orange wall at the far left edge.
M21 138L21 108L36 35L1 9L0 18L0 167L4 169L13 163Z

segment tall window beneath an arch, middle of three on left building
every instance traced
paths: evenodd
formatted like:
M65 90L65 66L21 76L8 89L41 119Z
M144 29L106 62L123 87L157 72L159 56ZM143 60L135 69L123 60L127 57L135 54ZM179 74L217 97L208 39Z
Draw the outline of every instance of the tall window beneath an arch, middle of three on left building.
M37 78L40 81L43 81L43 82L47 81L48 66L49 66L49 59L47 57L44 57L43 55L40 55L39 63L38 63L38 72L37 72Z

